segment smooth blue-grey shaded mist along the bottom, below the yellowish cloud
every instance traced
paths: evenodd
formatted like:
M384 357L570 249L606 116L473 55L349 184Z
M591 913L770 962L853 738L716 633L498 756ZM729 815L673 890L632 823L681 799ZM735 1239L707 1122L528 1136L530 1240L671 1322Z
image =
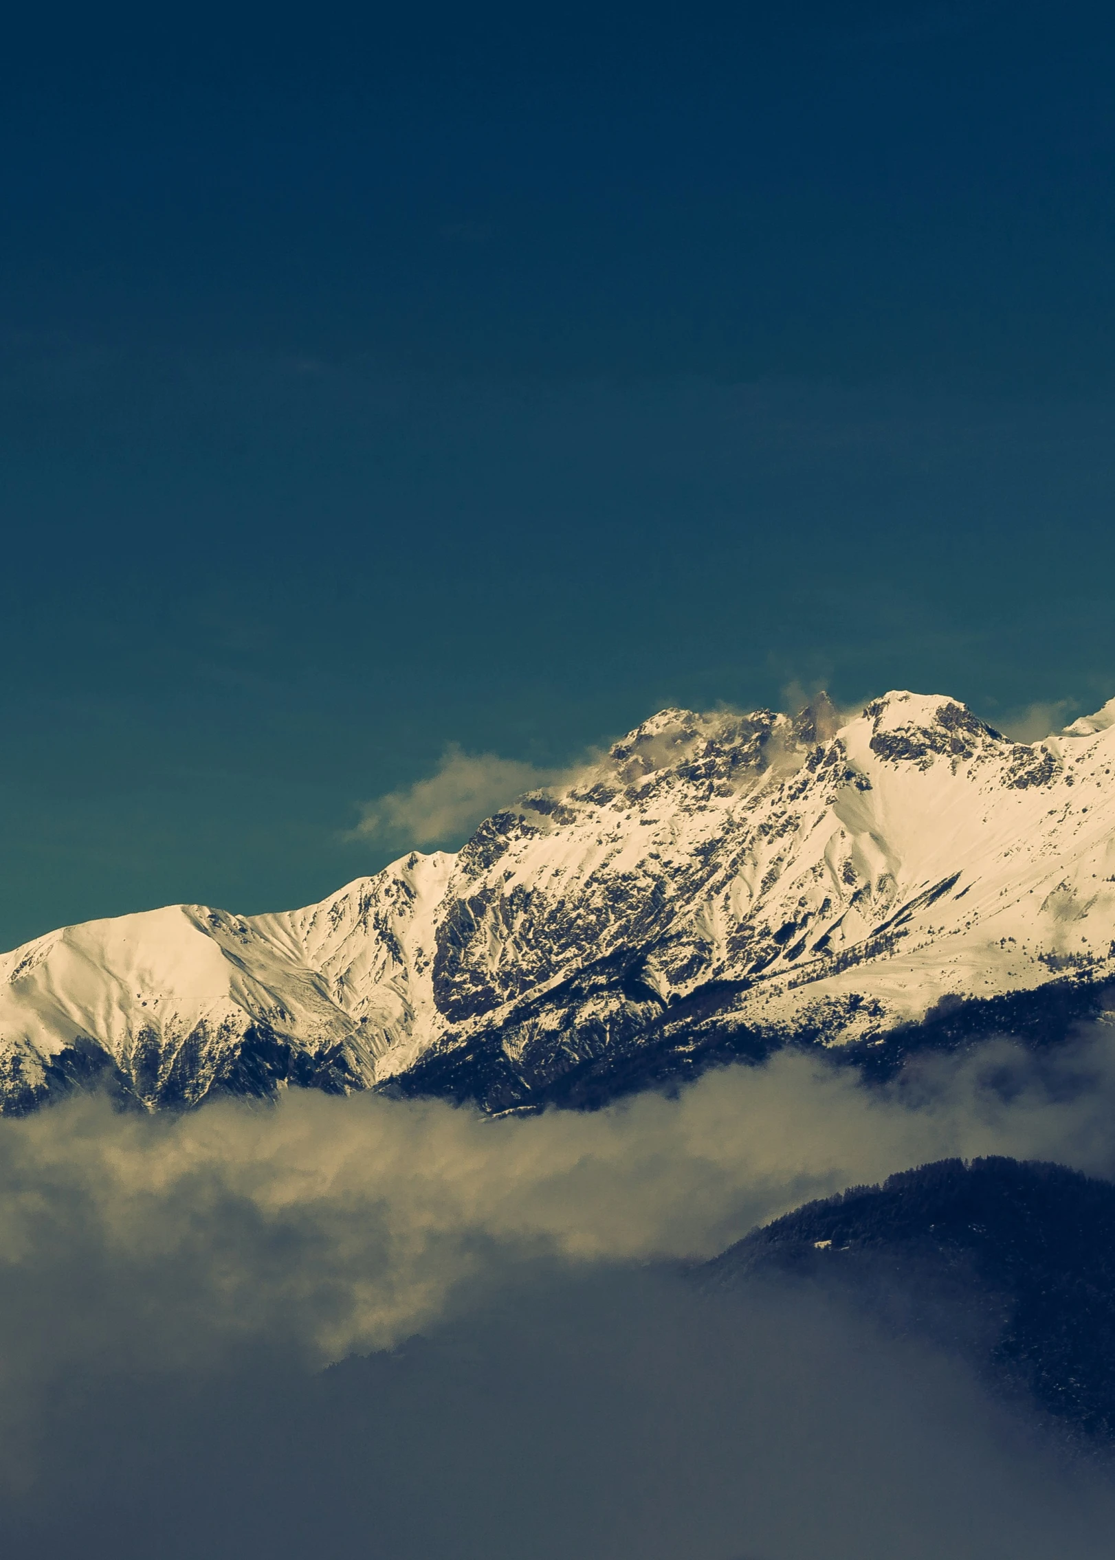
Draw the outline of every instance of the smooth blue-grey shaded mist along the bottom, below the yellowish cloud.
M73 1392L14 1560L1107 1560L1115 1491L794 1292L535 1273L396 1354Z

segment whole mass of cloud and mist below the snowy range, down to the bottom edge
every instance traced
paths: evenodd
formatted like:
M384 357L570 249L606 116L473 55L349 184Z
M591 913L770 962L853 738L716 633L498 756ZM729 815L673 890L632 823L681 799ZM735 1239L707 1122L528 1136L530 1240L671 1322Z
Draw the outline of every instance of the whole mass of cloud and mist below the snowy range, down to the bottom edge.
M292 1466L309 1459L317 1470L307 1473L309 1504L290 1532L326 1499L321 1448L337 1437L363 1446L363 1473L338 1473L337 1499L345 1510L363 1510L362 1501L379 1501L384 1512L390 1505L395 1515L382 1521L395 1524L396 1537L374 1552L401 1560L664 1557L685 1548L685 1532L705 1533L688 1552L710 1560L1056 1552L1050 1541L1042 1548L1026 1538L1026 1523L1007 1521L1011 1501L1023 1513L1034 1507L1029 1476L1018 1473L1031 1454L1004 1451L990 1420L972 1429L976 1420L964 1404L976 1390L961 1374L945 1371L953 1396L942 1406L933 1396L936 1367L923 1368L909 1351L895 1365L894 1351L862 1342L858 1323L830 1312L828 1321L817 1320L820 1312L800 1326L786 1321L805 1315L794 1309L805 1301L792 1296L778 1304L753 1298L750 1320L733 1312L730 1321L727 1310L713 1315L719 1301L639 1270L657 1259L711 1256L811 1197L947 1154L982 1153L1112 1173L1115 1030L1096 1026L1074 1047L1043 1056L1003 1042L961 1061L931 1058L886 1090L865 1089L848 1070L781 1055L761 1069L710 1073L675 1100L644 1095L597 1115L493 1122L438 1101L292 1092L274 1108L229 1101L176 1120L114 1115L104 1101L75 1100L3 1122L0 1452L9 1552L51 1552L47 1527L64 1526L64 1513L44 1505L45 1477L58 1480L64 1470L73 1512L109 1501L104 1491L136 1460L151 1462L153 1488L172 1480L182 1457L195 1470L190 1479L220 1485L225 1465L204 1448L228 1446L229 1426L239 1426L239 1449L228 1457L237 1466L246 1459L239 1477L256 1490L253 1501L264 1499L268 1470L285 1466L284 1457ZM407 1343L416 1334L430 1342ZM819 1340L816 1348L805 1346L809 1338ZM402 1356L349 1359L326 1376L307 1370L401 1346ZM566 1393L560 1412L547 1396L555 1392ZM614 1431L607 1429L610 1392L619 1406ZM501 1402L505 1412L497 1413ZM496 1463L483 1462L473 1488L466 1471L480 1457L477 1415ZM906 1459L894 1473L887 1415ZM399 1416L402 1429L390 1429ZM558 1434L561 1424L571 1443ZM685 1424L694 1426L692 1445ZM274 1435L298 1445L281 1454ZM950 1449L957 1435L961 1448L976 1437L970 1460L993 1485L992 1505L979 1504L964 1457ZM245 1449L253 1437L254 1452ZM675 1443L677 1465L663 1451ZM597 1451L589 1455L586 1446ZM630 1449L636 1446L650 1448L642 1462ZM349 1452L342 1452L335 1448L343 1463ZM711 1484L702 1484L699 1452L719 1470ZM622 1466L610 1493L600 1493L599 1470L613 1457ZM526 1541L526 1529L518 1548L473 1544L469 1532L488 1532L477 1490L490 1502L510 1501L515 1521L529 1527L554 1507L569 1459L574 1485L588 1480L597 1491L577 1496L597 1512L596 1548L583 1533L577 1538L572 1518L554 1527L566 1535L565 1548L557 1538L546 1540L550 1548ZM395 1473L388 1477L385 1468ZM943 1518L934 1518L925 1543L912 1529L901 1544L886 1538L906 1519L903 1499L928 1512L936 1468L947 1470L942 1479L961 1480L956 1501L978 1507L979 1523L1003 1509L1003 1532L1021 1535L1014 1548L995 1548L990 1538L967 1549L945 1541ZM111 1498L131 1501L133 1515L134 1477L125 1479L129 1494L120 1485ZM890 1477L898 1493L887 1490ZM363 1484L354 1493L346 1479L371 1480L379 1494L373 1501ZM794 1518L797 1527L773 1509L766 1529L756 1516L756 1541L741 1538L733 1549L724 1523L731 1513L742 1521L744 1507L770 1505L763 1479L783 1491L788 1512L802 1501L809 1510ZM798 1490L794 1480L802 1479ZM315 1480L324 1480L321 1488ZM624 1480L636 1493L624 1493ZM692 1494L686 1480L694 1480ZM399 1490L413 1491L413 1507L399 1504ZM434 1507L419 1521L427 1490ZM1062 1554L1104 1552L1088 1548L1087 1512L1107 1498L1099 1487L1088 1490L1078 1502L1084 1526L1060 1544ZM448 1499L473 1512L473 1527L452 1544L429 1529ZM167 1501L173 1504L170 1494ZM674 1535L672 1549L653 1537L647 1513L655 1501L667 1507L658 1521L661 1533ZM839 1532L822 1541L816 1523L825 1510L844 1512L847 1526L856 1501L890 1516L859 1549L841 1548ZM621 1512L628 1512L627 1529ZM1031 1527L1050 1538L1037 1515ZM638 1544L624 1532L636 1533ZM426 1549L415 1533L426 1533ZM58 1538L59 1554L69 1541ZM164 1541L158 1549L179 1552Z

